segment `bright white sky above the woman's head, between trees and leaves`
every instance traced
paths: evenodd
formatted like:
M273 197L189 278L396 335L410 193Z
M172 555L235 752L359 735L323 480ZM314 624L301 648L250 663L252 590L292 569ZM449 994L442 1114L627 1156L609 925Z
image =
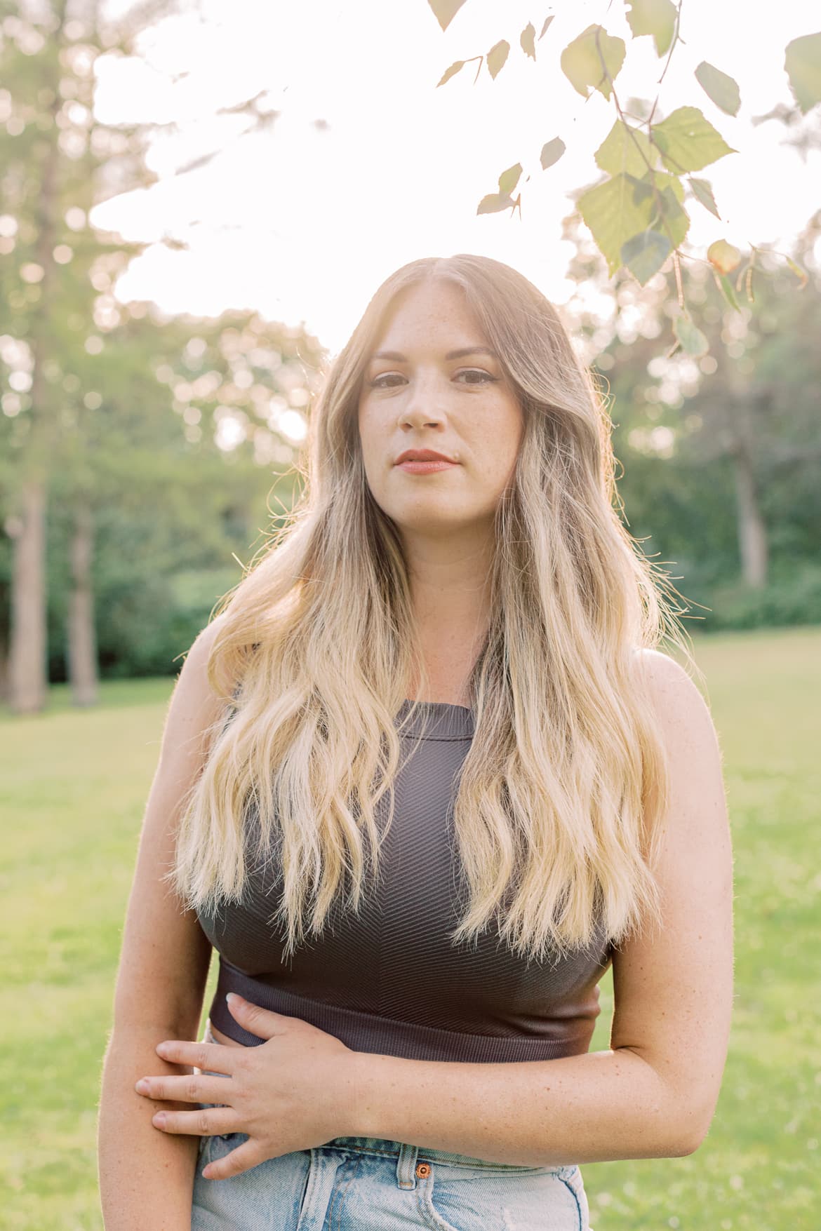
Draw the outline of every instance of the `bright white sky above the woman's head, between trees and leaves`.
M106 12L127 10L108 0ZM555 14L535 63L519 47ZM143 60L97 62L101 122L174 124L149 155L159 182L96 207L91 220L150 243L121 278L122 300L153 299L169 313L261 311L304 324L336 353L377 286L420 256L478 252L506 261L555 303L566 302L566 193L595 182L593 151L615 111L598 92L585 102L559 68L561 49L592 22L628 44L619 100L654 98L665 60L649 37L633 42L622 0L467 0L443 33L426 0L201 0L198 14L146 32ZM820 201L821 154L806 161L783 144L784 126L750 117L791 103L784 47L821 26L817 0L778 0L756 17L750 0L684 0L681 34L659 107L702 108L729 154L697 172L709 178L719 222L697 202L688 243L698 255L725 238L783 249ZM457 59L500 38L511 53L496 80ZM713 105L693 69L702 59L735 76L739 118ZM249 121L215 112L262 94L279 118L242 137ZM327 128L315 127L326 121ZM811 122L812 114L805 122ZM542 170L545 142L567 151ZM218 149L206 166L175 172ZM522 162L518 211L476 215L506 167ZM531 175L529 183L524 177ZM190 251L169 251L162 235Z

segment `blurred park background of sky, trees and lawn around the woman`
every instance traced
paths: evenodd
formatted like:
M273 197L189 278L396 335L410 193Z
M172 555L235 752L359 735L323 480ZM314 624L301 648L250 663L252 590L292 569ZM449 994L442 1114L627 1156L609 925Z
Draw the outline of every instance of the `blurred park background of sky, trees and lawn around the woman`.
M517 46L528 21L537 60ZM630 532L668 571L724 752L736 998L695 1155L585 1165L595 1231L820 1225L821 116L811 0L686 0L662 86L737 153L682 262L608 278L574 211L613 123L559 71L620 4L0 0L0 1227L102 1226L96 1105L143 809L181 655L287 516L327 363L422 255L516 266L607 389ZM455 59L513 43L474 81ZM731 118L702 59L739 81ZM543 144L565 156L543 171ZM502 170L522 209L476 214ZM704 249L756 260L732 309ZM803 276L799 276L799 271ZM206 996L215 982L212 969ZM591 1050L608 1045L612 981Z

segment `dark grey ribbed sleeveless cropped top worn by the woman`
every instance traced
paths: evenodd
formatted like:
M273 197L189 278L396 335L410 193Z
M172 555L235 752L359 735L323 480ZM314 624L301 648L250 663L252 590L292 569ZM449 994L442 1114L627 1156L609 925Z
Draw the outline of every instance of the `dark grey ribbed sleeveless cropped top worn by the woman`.
M287 933L271 918L282 880L270 856L246 864L241 905L199 913L219 953L212 1025L249 1046L263 1040L231 1017L225 993L299 1017L354 1051L416 1060L550 1060L588 1050L601 1012L598 982L612 961L601 924L596 943L564 958L517 956L496 921L475 943L453 945L460 868L452 821L455 780L474 734L473 710L425 702L396 720L415 751L394 780L394 816L379 849L379 881L366 883L358 915L335 902L321 936L283 960ZM386 804L379 800L375 816ZM258 824L258 820L257 822ZM464 884L464 881L463 881ZM467 895L465 895L467 900Z

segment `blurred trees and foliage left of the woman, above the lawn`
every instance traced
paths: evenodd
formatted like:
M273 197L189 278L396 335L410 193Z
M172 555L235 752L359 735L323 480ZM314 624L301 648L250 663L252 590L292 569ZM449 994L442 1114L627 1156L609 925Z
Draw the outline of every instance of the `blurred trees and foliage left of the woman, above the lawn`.
M252 310L169 316L117 295L149 245L90 215L158 182L146 151L174 124L101 122L95 64L138 58L140 36L180 7L0 10L0 696L25 693L28 710L44 704L44 660L52 681L74 664L81 704L97 667L178 670L239 580L235 556L246 563L292 502L320 380L325 352L303 326ZM234 114L265 127L252 101ZM192 570L201 601L181 602L175 579Z

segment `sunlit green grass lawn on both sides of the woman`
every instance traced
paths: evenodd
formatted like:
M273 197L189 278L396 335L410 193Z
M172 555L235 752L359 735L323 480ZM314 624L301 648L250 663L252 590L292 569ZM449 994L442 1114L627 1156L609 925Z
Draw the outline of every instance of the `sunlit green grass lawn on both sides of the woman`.
M583 1166L591 1225L816 1231L821 628L694 645L724 750L734 835L730 1055L713 1126L694 1155ZM171 680L112 681L89 710L74 710L66 688L55 687L48 713L0 715L4 1229L102 1227L101 1064L171 687ZM608 1045L612 1004L608 975L591 1050Z

